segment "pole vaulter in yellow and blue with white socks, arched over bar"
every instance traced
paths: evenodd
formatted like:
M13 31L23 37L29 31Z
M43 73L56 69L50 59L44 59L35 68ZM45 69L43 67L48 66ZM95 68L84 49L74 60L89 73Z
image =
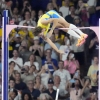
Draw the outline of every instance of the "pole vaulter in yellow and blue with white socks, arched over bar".
M52 27L50 28L51 24ZM49 39L55 28L70 28L70 29L66 29L66 30L62 29L62 30L78 39L76 46L81 46L85 42L85 39L88 37L87 34L84 34L75 25L68 23L56 11L54 10L48 11L47 13L45 13L39 18L37 27L34 29L34 35L43 38L58 53L64 53L64 52L60 51L56 47L56 45Z

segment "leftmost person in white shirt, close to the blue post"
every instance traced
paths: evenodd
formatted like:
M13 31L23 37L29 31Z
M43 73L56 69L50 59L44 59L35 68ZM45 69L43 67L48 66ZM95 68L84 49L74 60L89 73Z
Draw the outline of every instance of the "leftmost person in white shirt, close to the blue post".
M23 59L19 57L19 53L17 50L13 50L13 57L9 59L9 63L11 61L14 61L16 63L14 70L20 72L23 66Z

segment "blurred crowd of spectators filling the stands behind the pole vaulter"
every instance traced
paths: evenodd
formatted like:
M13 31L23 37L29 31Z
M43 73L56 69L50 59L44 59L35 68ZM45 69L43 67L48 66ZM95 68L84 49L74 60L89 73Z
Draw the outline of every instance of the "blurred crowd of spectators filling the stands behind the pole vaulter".
M36 27L40 16L56 10L77 27L98 26L99 0L0 0L8 10L10 24ZM90 29L86 43L76 47L77 38L55 29L51 41L63 50L58 54L39 37L34 28L16 28L9 33L9 100L98 100L99 40ZM0 98L2 97L2 28L0 28Z

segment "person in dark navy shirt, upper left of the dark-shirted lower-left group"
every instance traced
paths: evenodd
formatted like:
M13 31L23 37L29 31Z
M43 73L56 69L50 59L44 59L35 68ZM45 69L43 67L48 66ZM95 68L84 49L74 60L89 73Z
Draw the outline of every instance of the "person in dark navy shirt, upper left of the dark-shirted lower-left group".
M22 82L20 73L16 73L15 74L15 89L21 92L22 90L26 88L27 86L24 82Z

